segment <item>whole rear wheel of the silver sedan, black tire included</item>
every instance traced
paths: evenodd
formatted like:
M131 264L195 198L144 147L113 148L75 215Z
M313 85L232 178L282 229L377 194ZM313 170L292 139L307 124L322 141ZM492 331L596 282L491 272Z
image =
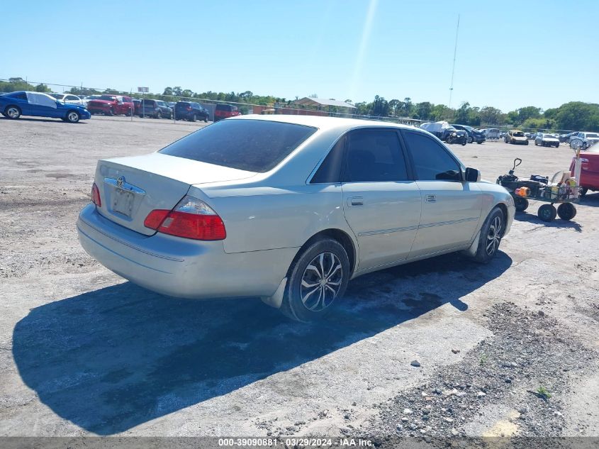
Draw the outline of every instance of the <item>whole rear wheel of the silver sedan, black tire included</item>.
M281 312L303 323L323 318L345 293L349 270L349 257L337 240L315 240L290 268Z

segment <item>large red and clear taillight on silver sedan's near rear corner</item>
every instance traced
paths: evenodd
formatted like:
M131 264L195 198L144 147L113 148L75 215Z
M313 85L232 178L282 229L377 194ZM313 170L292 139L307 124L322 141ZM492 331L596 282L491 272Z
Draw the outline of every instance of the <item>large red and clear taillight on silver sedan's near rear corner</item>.
M143 224L160 233L195 240L223 240L227 236L222 218L208 204L189 195L172 211L151 211Z

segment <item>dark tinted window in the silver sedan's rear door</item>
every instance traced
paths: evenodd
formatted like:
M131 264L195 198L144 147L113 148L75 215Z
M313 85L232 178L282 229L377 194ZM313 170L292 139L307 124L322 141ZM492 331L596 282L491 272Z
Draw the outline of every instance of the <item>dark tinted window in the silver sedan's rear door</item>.
M347 135L344 182L406 181L406 169L395 131L359 130Z

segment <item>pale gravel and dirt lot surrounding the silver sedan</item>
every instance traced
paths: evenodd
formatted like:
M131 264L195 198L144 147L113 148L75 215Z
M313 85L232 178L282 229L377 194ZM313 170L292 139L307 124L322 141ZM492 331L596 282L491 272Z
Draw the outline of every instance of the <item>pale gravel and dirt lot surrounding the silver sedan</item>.
M147 292L79 247L96 160L201 126L0 120L0 436L599 436L599 193L572 222L532 203L489 265L366 275L303 325L259 300ZM514 157L522 176L571 159L452 150L493 181Z

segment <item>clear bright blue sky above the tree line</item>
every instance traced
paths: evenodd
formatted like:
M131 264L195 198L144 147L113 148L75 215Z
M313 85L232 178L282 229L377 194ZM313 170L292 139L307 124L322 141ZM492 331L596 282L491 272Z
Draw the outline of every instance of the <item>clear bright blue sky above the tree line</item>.
M5 2L0 78L447 104L458 13L452 106L599 103L596 0Z

